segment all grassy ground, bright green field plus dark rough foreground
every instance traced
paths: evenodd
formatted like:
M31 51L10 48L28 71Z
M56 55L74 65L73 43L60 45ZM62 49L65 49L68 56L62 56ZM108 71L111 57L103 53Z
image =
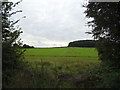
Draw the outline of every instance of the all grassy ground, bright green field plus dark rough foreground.
M95 48L27 49L8 88L120 88L120 70L98 60Z

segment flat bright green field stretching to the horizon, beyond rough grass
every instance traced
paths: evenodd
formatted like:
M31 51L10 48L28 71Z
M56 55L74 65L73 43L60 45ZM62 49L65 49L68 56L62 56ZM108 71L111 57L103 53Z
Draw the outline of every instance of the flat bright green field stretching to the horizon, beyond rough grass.
M34 48L26 49L25 57L29 61L50 62L98 62L97 50L95 48Z

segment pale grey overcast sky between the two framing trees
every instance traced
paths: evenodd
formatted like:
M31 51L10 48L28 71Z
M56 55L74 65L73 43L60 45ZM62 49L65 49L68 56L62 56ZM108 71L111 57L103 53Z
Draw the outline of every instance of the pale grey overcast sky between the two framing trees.
M19 0L15 0L19 1ZM23 0L14 16L23 33L24 44L35 47L64 47L76 40L93 39L82 5L85 0ZM25 18L22 18L25 17Z

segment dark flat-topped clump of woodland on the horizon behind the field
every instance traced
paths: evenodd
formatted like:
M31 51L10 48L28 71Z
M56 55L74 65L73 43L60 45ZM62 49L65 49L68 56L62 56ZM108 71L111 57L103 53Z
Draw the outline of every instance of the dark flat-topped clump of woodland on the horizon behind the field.
M68 47L95 47L95 40L79 40L70 42Z

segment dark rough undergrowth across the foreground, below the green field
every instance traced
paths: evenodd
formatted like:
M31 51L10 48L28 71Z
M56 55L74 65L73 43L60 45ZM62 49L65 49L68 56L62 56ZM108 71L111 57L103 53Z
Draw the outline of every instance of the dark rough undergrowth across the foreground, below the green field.
M47 63L47 64L46 64ZM49 63L49 64L48 64ZM99 64L82 64L71 72L62 71L50 62L29 62L29 66L15 76L10 88L119 88L119 70ZM65 69L61 66L62 69ZM84 67L84 68L83 68ZM86 68L85 68L86 67Z

